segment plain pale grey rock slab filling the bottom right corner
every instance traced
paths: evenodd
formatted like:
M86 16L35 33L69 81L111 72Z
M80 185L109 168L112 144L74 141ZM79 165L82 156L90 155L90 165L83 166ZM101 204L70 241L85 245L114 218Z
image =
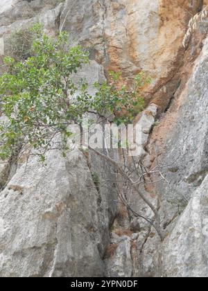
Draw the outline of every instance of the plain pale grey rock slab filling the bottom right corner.
M207 277L208 176L162 247L163 276Z

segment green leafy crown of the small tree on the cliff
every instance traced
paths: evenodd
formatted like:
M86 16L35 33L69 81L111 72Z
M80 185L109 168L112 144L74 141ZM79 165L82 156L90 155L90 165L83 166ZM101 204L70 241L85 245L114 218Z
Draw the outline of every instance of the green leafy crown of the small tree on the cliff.
M129 91L118 87L120 73L111 72L112 82L96 83L93 97L85 80L73 81L78 69L89 62L87 52L69 46L65 32L52 39L36 24L31 33L31 57L19 62L4 59L7 70L0 77L0 111L6 121L0 123L1 159L8 159L20 146L31 145L44 161L46 151L60 147L55 136L67 141L69 124L80 123L90 110L113 114L124 108L125 116L115 117L122 123L132 120L135 108L137 112L142 109L144 101L138 91L148 82L142 74L136 76L135 87ZM61 147L64 149L66 142Z

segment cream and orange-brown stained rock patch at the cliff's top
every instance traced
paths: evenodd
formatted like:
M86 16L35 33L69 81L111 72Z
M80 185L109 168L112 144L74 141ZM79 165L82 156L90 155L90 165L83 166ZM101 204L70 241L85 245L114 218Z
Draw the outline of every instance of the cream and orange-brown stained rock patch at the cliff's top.
M144 35L149 34L151 39L148 46L145 44L146 51L141 53L139 47L144 39L139 14L144 12L138 9L138 1L111 2L107 9L110 24L105 30L106 71L122 71L123 84L130 84L139 71L147 71L153 84L144 89L146 105L155 103L159 113L164 112L180 79L176 75L184 63L182 39L188 21L201 6L201 0L159 0L157 11L149 12L150 24L144 26Z

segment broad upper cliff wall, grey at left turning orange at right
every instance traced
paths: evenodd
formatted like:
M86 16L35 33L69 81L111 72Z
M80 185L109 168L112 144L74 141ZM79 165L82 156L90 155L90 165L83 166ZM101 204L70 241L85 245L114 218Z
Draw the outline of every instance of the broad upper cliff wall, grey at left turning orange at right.
M146 100L162 111L177 89L174 74L182 63L181 43L187 21L201 0L67 0L60 27L89 48L105 70L122 71L130 82L138 71L153 78ZM180 15L180 21L178 21Z

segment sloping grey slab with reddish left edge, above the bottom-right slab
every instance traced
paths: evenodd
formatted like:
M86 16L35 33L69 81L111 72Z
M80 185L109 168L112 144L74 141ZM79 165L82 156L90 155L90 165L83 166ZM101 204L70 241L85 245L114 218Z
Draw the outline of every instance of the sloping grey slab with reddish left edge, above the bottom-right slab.
M207 51L206 39L187 86L175 96L173 107L155 128L149 146L154 154L155 148L158 154L165 148L166 153L159 160L170 165L164 169L170 184L163 182L157 186L165 222L184 209L208 171Z

